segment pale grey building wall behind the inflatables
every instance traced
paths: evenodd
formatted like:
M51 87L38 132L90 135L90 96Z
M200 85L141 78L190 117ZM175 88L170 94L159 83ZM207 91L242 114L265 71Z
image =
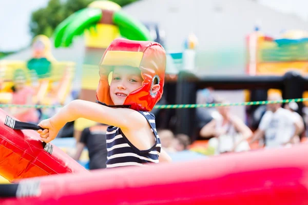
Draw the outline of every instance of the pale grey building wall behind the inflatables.
M123 9L142 22L158 23L169 52L181 50L194 32L199 39L197 69L203 74L243 74L245 36L257 23L274 36L284 29L308 29L297 16L248 0L141 0Z

